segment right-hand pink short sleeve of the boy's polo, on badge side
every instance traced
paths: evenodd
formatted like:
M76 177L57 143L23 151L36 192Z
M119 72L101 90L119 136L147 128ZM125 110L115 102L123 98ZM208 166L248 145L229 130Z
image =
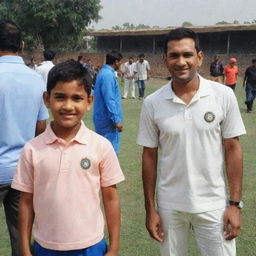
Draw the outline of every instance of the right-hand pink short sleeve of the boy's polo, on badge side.
M109 187L124 180L118 158L109 141L104 144L104 153L100 162L100 177L102 187Z

